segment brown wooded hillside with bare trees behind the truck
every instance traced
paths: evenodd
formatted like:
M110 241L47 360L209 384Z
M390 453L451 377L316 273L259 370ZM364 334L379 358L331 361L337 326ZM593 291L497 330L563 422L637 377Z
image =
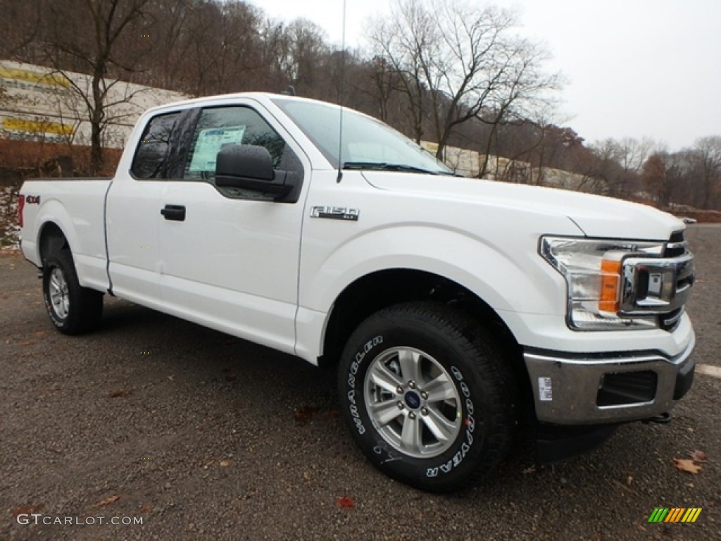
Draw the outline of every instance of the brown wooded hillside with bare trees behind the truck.
M363 49L345 50L307 19L239 0L0 0L0 13L0 58L92 77L75 89L93 126L89 172L112 160L101 135L113 81L193 96L292 86L432 141L442 159L449 146L477 151L479 176L547 185L562 170L593 193L721 209L721 137L679 151L650 138L585 141L562 122L549 51L491 4L398 0L368 22Z

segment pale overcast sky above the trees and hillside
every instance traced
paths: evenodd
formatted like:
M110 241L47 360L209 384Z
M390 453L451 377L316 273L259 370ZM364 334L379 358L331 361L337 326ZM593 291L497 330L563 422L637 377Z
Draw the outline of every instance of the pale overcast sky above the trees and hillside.
M342 0L249 0L305 17L340 45ZM346 44L394 0L347 0ZM452 0L447 0L452 1ZM516 6L523 35L546 43L565 74L563 113L587 141L652 136L669 149L721 135L721 0L471 0Z

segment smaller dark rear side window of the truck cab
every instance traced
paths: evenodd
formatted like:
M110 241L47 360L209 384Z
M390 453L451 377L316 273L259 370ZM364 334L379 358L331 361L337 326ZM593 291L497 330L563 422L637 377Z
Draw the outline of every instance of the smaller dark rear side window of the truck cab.
M150 119L143 131L131 172L137 178L165 178L168 147L173 126L180 113L167 113Z

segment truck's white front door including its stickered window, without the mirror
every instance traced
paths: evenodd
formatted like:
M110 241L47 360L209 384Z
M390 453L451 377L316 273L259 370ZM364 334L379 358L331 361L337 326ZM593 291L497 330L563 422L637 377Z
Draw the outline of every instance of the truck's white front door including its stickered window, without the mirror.
M302 179L297 201L215 184L228 144L265 146L276 170ZM181 178L169 179L159 228L165 309L293 353L301 224L310 165L255 102L205 107L188 136Z

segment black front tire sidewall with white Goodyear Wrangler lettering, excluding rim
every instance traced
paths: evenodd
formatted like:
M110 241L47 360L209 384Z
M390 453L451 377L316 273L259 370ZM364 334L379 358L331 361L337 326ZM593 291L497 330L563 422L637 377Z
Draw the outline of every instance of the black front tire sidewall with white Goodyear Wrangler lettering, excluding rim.
M446 491L463 484L483 462L487 409L483 382L469 366L459 345L430 325L409 320L402 326L374 321L361 325L342 356L339 390L342 411L350 431L368 459L392 478L430 491ZM370 332L369 332L370 331ZM410 347L433 357L448 372L461 401L461 430L446 452L432 458L416 458L394 449L376 430L368 415L364 385L366 374L384 351Z

